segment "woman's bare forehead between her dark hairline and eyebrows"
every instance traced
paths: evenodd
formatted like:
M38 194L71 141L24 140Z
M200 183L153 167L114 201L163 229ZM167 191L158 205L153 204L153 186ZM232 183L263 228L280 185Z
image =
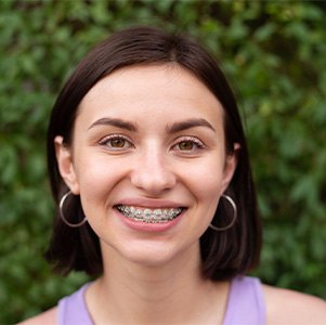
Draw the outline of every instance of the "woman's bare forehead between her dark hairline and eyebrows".
M147 110L151 114L222 117L223 107L213 93L190 70L178 64L131 66L101 79L82 99L78 115L89 119L105 114Z

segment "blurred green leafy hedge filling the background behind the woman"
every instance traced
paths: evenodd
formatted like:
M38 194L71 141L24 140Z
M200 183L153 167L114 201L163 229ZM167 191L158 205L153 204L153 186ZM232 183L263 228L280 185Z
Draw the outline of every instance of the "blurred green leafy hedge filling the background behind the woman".
M326 298L326 2L0 1L0 323L87 281L43 261L53 219L44 139L55 95L91 46L151 24L219 57L246 120L265 283Z

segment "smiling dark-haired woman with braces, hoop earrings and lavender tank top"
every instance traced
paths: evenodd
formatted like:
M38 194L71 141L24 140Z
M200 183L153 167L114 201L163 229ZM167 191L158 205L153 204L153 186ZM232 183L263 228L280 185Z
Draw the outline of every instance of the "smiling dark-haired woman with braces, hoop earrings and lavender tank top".
M235 99L195 42L136 27L78 65L48 138L48 259L96 275L27 324L322 324L321 299L262 285Z

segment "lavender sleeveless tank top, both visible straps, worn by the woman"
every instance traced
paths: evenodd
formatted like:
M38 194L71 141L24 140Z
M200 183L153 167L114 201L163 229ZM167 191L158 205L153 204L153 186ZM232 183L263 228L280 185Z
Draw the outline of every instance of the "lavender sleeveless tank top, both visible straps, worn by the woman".
M89 284L58 301L57 325L93 325L84 301ZM259 278L235 277L231 283L223 325L264 325L265 306Z

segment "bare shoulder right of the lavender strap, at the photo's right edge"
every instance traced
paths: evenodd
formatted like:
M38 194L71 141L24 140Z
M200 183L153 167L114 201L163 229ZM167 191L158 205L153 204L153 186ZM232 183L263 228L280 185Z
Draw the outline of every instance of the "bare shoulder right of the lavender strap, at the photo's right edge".
M326 324L326 301L305 294L263 285L268 324Z

